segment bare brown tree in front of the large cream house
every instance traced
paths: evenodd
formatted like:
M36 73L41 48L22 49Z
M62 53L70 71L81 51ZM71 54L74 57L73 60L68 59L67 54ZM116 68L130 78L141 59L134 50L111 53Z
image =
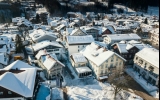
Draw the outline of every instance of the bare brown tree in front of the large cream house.
M114 99L123 89L127 89L127 81L130 80L130 77L124 74L124 68L118 69L115 68L112 70L112 74L109 75L108 82L114 89Z

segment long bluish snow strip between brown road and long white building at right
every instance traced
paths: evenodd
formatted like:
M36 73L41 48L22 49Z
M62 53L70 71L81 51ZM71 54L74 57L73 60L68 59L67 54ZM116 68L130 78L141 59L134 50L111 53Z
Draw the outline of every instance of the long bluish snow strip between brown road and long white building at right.
M153 97L158 97L157 93L158 88L148 83L142 77L139 78L139 74L133 70L133 68L127 68L125 70L137 83L139 83L149 94Z

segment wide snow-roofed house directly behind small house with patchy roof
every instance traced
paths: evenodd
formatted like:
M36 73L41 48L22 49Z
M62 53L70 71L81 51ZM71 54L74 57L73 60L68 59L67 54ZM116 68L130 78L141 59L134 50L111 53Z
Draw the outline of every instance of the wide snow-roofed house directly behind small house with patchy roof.
M25 48L28 54L37 54L39 50L46 49L47 52L54 52L58 59L62 59L62 54L65 53L62 44L56 41L42 41Z

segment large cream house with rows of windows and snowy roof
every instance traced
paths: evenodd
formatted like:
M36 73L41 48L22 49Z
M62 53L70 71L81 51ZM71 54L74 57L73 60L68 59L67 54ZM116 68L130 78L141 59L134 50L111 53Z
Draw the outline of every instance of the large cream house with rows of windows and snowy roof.
M80 51L88 60L89 67L98 80L105 80L114 69L122 69L126 61L117 53L100 47L94 42Z

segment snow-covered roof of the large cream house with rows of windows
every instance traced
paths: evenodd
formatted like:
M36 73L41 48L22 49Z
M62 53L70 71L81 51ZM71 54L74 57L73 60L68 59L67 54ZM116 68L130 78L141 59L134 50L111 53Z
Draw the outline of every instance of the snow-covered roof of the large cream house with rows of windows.
M94 62L97 66L100 66L103 62L109 59L111 56L116 55L122 60L126 61L124 58L119 56L117 53L114 53L105 48L99 48L92 42L90 45L86 46L83 50L80 51L88 60Z

